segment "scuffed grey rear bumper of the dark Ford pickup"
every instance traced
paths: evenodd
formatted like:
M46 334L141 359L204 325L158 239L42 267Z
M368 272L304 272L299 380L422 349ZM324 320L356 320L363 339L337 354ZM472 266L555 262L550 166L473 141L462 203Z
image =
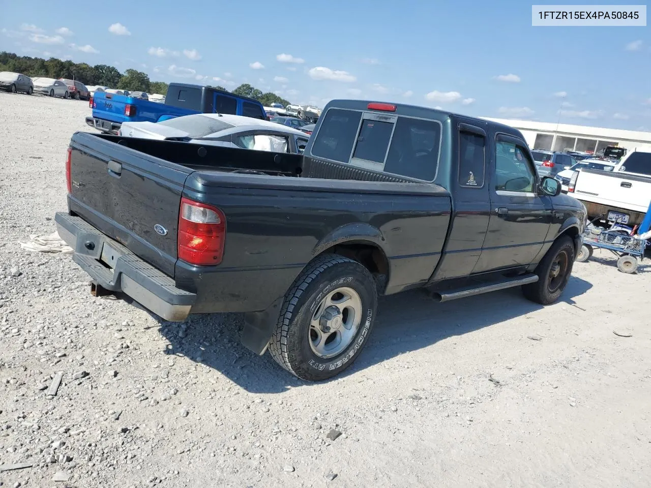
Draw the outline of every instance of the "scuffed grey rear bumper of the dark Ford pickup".
M105 236L81 217L55 215L61 239L74 249L72 259L96 284L122 291L169 321L184 321L197 299L176 288L173 278L143 261L122 244Z

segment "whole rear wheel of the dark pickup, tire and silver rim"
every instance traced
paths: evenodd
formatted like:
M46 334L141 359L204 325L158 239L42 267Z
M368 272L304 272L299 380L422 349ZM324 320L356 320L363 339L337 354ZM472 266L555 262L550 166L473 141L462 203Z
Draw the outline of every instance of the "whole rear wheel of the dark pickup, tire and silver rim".
M377 306L374 278L363 265L337 254L318 256L284 297L271 357L307 381L333 377L368 342Z

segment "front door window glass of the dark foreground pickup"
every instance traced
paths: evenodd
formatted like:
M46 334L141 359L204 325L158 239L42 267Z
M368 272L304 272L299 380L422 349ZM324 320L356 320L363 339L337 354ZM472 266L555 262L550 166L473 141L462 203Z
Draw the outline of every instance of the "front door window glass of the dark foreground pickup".
M495 143L495 191L531 193L536 176L527 150L514 142Z

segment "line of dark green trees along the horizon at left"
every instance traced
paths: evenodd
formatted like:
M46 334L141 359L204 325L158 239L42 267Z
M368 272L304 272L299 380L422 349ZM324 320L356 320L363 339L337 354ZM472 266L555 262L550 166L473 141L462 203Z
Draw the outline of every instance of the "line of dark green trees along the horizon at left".
M18 56L7 51L0 52L0 71L10 71L27 75L29 77L48 77L76 79L84 85L102 85L103 87L117 88L118 90L130 90L132 92L167 93L167 83L164 81L151 81L149 75L138 70L128 69L124 73L107 64L96 64L90 66L85 62L63 61L58 58L42 59L30 56ZM215 87L220 90L229 91L224 87ZM282 103L283 107L290 102L281 98L273 92L263 93L262 90L244 83L232 90L233 94L255 98L265 105L271 103Z

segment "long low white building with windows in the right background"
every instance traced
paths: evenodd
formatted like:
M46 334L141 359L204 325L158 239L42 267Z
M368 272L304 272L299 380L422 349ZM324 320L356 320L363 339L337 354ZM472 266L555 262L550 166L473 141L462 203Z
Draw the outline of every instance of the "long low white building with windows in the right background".
M619 146L628 150L635 148L651 150L651 132L572 126L533 120L484 118L518 129L531 149L599 152L606 146Z

